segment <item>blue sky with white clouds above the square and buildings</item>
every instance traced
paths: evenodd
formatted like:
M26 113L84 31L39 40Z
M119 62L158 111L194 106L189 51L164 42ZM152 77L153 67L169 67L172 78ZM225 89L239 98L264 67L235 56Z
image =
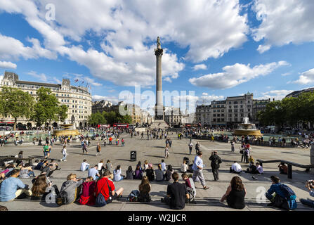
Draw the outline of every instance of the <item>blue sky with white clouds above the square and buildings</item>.
M177 98L282 99L314 86L313 11L313 0L0 0L0 74L68 78L117 103L135 86L155 92L159 36L163 90L186 91Z

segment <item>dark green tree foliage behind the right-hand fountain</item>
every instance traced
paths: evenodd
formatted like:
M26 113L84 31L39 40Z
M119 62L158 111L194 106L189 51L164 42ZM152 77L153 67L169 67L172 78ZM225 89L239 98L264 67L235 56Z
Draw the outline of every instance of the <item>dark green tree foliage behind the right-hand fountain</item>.
M284 98L266 105L259 112L259 121L264 125L296 125L300 122L314 122L314 92L301 94L297 98Z

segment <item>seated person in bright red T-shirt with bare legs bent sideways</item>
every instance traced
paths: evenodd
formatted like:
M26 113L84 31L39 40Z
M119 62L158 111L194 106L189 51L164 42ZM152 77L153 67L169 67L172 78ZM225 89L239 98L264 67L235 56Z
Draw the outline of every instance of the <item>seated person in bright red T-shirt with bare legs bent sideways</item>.
M112 200L116 200L119 198L124 188L119 188L117 191L115 190L115 184L110 181L109 177L111 176L111 172L106 170L103 173L103 177L97 181L96 184L96 206L102 207L109 203L112 203Z

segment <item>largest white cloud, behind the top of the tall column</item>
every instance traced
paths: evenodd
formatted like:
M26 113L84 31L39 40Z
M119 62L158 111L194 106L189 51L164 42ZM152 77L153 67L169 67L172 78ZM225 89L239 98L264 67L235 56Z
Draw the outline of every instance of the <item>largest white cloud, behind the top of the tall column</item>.
M36 51L41 46L33 43L38 46L33 46L35 56L53 58L60 53L89 68L94 77L126 86L154 83L155 44L148 47L147 43L157 36L162 37L162 44L174 41L187 48L185 59L197 63L242 46L249 30L247 15L240 15L238 0L94 0L93 4L55 0L56 21L47 21L45 6L50 3L51 0L0 0L0 9L24 15L44 37L46 49ZM105 52L96 51L98 46L85 51L67 42L85 41L86 34L103 40ZM184 64L178 62L176 54L164 50L163 76L170 82L178 77ZM32 57L30 53L20 55L34 58L34 53Z

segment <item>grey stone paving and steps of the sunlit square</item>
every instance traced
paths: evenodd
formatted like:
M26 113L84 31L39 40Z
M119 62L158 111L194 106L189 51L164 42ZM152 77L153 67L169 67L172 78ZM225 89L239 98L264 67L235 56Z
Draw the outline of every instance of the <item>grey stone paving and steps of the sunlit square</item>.
M196 140L192 140L193 151L192 155L188 155L188 142L189 139L178 140L176 134L170 135L172 139L172 147L170 149L169 158L165 159L166 165L171 164L174 167L176 172L180 171L181 163L183 158L186 156L192 161L195 157L195 143ZM60 170L53 172L53 184L56 184L58 188L66 180L66 177L70 173L75 173L79 178L86 178L87 172L79 171L81 162L86 159L91 166L96 165L100 160L107 161L111 160L113 167L117 165L122 166L123 174L126 173L126 169L131 165L135 169L138 161L143 162L148 160L149 163L154 165L154 168L157 168L157 164L164 159L164 146L165 140L147 140L145 136L143 139L140 139L140 136L131 136L129 134L122 134L122 137L125 140L126 146L102 146L102 155L96 155L96 144L98 141L92 141L91 146L89 147L88 155L81 155L81 146L79 141L73 141L72 146L67 146L67 162L58 162ZM120 137L120 140L122 139ZM103 143L99 141L102 145ZM227 203L220 203L219 200L221 196L225 193L230 180L235 174L229 173L229 168L233 164L234 160L237 160L242 165L242 169L247 169L248 165L240 162L241 155L239 153L240 144L236 144L235 153L230 151L230 143L221 143L218 141L210 142L205 140L199 141L201 145L201 150L203 151L203 160L204 160L204 178L206 179L206 184L209 186L209 190L203 190L199 182L196 182L195 186L197 187L197 198L196 205L188 204L185 206L186 211L231 211ZM0 155L18 155L18 152L23 150L24 158L27 157L36 157L43 158L42 146L31 146L31 145L22 145L22 146L5 146L0 148ZM60 153L61 145L56 144L53 146L51 151L51 158L60 160L62 154ZM137 151L137 160L136 162L130 161L130 150ZM219 169L219 181L213 181L214 176L211 173L209 156L211 155L212 150L217 150L218 155L221 156L223 163ZM253 158L262 159L262 160L288 160L292 162L297 162L303 165L310 164L310 150L301 149L301 148L270 148L263 146L252 146L251 155ZM239 176L241 177L245 188L247 189L247 195L245 196L246 207L240 211L277 211L277 209L272 207L267 207L268 202L263 200L263 191L267 191L270 187L271 181L270 176L276 175L279 176L282 183L290 186L297 196L298 209L297 210L313 210L310 207L303 206L300 202L300 198L310 198L308 190L304 187L305 181L307 179L313 179L313 175L306 173L304 169L293 167L293 179L288 179L287 175L279 174L277 169L277 163L265 164L263 165L264 174L254 175L258 180L251 178L251 174L242 173ZM39 175L39 171L35 170L35 175ZM181 175L181 173L180 173ZM22 179L25 184L28 184L30 188L32 187L31 179ZM180 176L180 181L181 176ZM78 205L77 203L72 203L70 205L63 205L58 207L58 205L53 203L44 203L40 201L34 201L29 199L23 200L14 200L7 203L0 203L8 207L8 210L104 210L104 211L164 211L170 210L167 205L160 202L160 198L166 195L167 184L171 182L163 181L157 182L152 181L152 202L151 203L129 203L126 202L126 197L132 190L138 189L140 180L123 180L115 182L116 188L123 187L124 194L123 197L119 200L114 201L112 204L106 205L105 207L91 207L86 205ZM181 211L184 211L181 210Z

